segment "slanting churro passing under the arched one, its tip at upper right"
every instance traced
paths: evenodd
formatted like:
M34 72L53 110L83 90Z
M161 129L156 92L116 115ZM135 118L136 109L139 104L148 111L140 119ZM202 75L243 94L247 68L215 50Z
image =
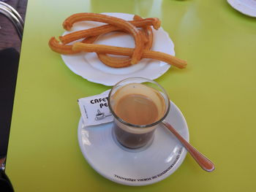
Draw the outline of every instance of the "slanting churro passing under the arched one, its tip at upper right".
M143 26L153 26L156 30L160 27L161 21L158 18L146 18L143 20L132 20L129 21L133 26L143 27ZM62 43L67 44L69 42L74 42L78 39L83 39L89 36L99 36L100 34L107 34L112 31L118 31L121 28L117 26L112 26L110 24L104 26L98 26L94 28L88 28L80 31L75 31L64 36L60 36L59 39Z

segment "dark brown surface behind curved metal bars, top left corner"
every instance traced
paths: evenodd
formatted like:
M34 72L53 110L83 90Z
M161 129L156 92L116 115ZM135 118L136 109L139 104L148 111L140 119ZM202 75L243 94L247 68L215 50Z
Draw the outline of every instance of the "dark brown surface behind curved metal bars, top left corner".
M4 2L15 8L25 20L27 0L5 0ZM0 14L0 50L15 47L20 51L20 45L20 39L12 22Z

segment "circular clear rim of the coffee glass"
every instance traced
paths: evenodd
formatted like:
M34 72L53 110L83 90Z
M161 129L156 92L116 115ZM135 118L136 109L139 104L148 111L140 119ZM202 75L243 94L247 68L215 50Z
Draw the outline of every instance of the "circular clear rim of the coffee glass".
M116 115L116 113L113 111L112 106L111 106L111 104L110 104L110 96L111 96L111 93L113 92L113 89L116 88L116 86L117 86L118 84L120 84L121 82L130 80L130 79L131 79L131 80L132 80L132 79L141 79L141 80L145 80L145 81L143 81L143 82L152 82L152 83L156 84L160 89L162 89L163 93L165 94L165 96L167 97L167 100L168 100L168 102L167 102L167 110L166 110L165 114L162 115L162 118L160 118L159 120L157 120L156 122L151 123L151 124L147 124L147 125L136 125L136 124L128 123L127 121L125 121L125 120L119 118L119 117ZM143 82L139 82L139 83L143 83ZM117 119L118 121L120 121L121 123L124 123L124 125L126 125L126 126L131 126L132 128L149 128L149 127L152 127L152 126L156 126L157 124L161 123L162 120L164 120L164 119L166 118L166 116L168 115L168 113L169 113L169 111L170 111L170 99L169 99L169 96L167 95L165 89L164 89L161 85L159 85L158 82L155 82L154 80L149 80L149 79L144 78L144 77L129 77L129 78L126 78L126 79L124 79L124 80L121 80L121 81L117 82L116 85L113 85L113 88L111 88L110 92L108 93L108 107L109 107L109 109L110 109L110 112L111 112L112 115L114 116L114 118L116 118L116 119Z

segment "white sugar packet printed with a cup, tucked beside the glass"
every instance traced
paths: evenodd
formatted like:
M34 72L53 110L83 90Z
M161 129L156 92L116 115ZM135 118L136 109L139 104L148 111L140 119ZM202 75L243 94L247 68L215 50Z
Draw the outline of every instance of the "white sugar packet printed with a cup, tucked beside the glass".
M78 99L78 105L85 126L96 126L113 121L113 115L108 108L108 93Z

